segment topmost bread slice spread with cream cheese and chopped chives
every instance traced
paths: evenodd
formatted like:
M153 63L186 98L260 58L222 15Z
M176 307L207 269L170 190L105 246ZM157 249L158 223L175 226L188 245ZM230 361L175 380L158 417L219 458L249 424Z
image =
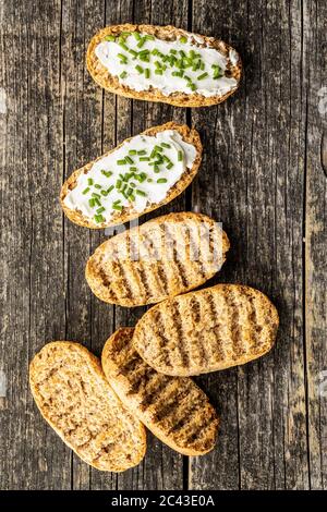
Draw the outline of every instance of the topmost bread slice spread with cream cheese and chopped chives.
M238 89L242 75L240 56L229 45L171 25L108 26L90 40L86 65L110 93L177 107L220 103Z

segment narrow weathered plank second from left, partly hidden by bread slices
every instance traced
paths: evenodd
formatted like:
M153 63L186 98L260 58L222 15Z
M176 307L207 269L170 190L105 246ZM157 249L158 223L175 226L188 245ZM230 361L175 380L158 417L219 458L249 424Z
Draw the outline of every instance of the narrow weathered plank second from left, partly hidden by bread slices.
M63 98L64 179L74 169L101 154L102 93L89 80L85 51L94 33L104 23L100 2L69 0L62 2L61 87ZM62 237L65 255L66 338L97 348L98 317L90 290L85 281L85 264L100 234L63 220ZM105 316L102 325L110 319ZM90 468L73 455L72 487L88 489Z

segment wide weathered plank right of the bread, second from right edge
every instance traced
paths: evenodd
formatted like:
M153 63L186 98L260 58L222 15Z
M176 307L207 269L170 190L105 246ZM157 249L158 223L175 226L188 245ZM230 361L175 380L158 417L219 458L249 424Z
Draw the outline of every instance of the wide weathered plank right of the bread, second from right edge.
M195 2L193 22L239 48L245 64L233 99L192 114L206 143L194 200L231 235L218 279L266 292L281 326L262 361L210 376L227 423L217 450L191 462L190 486L306 488L300 3L239 2L235 11L234 2Z

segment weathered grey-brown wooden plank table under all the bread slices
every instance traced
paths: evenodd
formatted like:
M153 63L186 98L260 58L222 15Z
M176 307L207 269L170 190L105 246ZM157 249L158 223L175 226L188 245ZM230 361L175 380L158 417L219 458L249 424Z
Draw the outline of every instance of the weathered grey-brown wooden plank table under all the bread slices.
M326 488L326 19L325 0L0 1L0 488ZM221 37L242 56L240 92L192 110L104 93L85 50L100 27L126 21ZM267 356L196 379L221 416L215 451L189 459L148 435L138 467L106 474L41 419L28 362L50 340L99 354L144 308L92 294L85 261L105 233L64 219L58 195L72 170L171 119L199 130L204 160L186 193L148 218L186 209L221 220L232 249L213 282L263 290L281 325Z

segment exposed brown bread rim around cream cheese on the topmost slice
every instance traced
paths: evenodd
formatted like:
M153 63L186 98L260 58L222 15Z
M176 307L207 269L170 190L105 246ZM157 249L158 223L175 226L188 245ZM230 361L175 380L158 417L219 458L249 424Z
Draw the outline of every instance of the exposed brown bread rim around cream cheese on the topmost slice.
M106 36L119 36L121 33L124 32L140 32L144 34L149 34L162 40L173 40L180 36L194 36L197 40L202 40L209 47L219 50L219 52L222 53L225 57L229 56L230 50L234 51L233 48L231 48L229 45L227 45L220 39L202 36L199 34L192 34L187 31L183 31L182 28L177 28L171 25L132 25L130 23L126 23L123 25L107 26L106 28L99 31L90 40L86 53L86 65L94 81L105 89L110 90L110 93L114 93L120 96L125 96L126 98L143 99L147 101L161 101L165 103L174 105L175 107L207 107L210 105L221 103L229 96L234 94L239 87L238 85L235 89L232 89L226 93L225 95L210 97L205 97L197 93L174 93L169 96L165 96L157 88L141 92L134 90L131 87L121 84L117 76L110 75L108 69L101 64L95 53L96 47L99 42L104 40ZM238 84L240 84L242 75L242 63L241 58L239 56L235 64L229 64L228 71L229 77L235 78Z

